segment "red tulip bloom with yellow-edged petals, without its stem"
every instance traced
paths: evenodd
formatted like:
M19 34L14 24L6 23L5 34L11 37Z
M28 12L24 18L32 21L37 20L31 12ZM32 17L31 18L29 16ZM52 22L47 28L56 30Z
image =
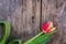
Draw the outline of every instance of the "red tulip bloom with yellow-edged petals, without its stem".
M42 26L42 30L44 33L51 33L52 31L54 31L56 28L54 28L53 22L48 21L47 23L45 23Z

